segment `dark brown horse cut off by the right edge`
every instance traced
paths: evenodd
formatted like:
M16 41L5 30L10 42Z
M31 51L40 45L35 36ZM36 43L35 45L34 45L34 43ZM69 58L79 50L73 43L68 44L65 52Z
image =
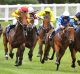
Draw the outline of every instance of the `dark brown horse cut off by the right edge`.
M75 40L74 43L71 43L70 46L71 51L71 57L72 57L72 67L75 68L75 62L76 62L76 53L80 52L80 26L77 27L77 30L75 31ZM80 60L77 61L78 65L80 66Z

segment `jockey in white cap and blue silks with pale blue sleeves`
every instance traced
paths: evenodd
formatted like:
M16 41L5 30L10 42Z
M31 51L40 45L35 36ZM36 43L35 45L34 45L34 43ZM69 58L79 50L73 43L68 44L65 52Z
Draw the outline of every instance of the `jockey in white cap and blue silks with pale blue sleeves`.
M57 20L57 27L55 29L55 31L52 32L52 34L50 35L50 40L53 39L55 32L59 32L60 29L63 29L65 26L67 26L67 24L70 23L70 25L74 25L73 21L71 20L71 18L69 17L69 12L68 11L64 11L63 15L61 15L58 20Z

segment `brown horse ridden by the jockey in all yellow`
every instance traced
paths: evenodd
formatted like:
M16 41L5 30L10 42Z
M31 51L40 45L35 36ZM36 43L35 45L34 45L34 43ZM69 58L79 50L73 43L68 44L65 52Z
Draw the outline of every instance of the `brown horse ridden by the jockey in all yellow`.
M43 19L43 26L41 27L40 31L39 31L39 36L38 36L38 43L39 43L39 52L38 54L40 54L40 59L42 58L42 54L43 54L43 44L45 44L45 39L46 39L46 35L47 33L53 29L51 24L50 24L50 17L48 15L46 15Z

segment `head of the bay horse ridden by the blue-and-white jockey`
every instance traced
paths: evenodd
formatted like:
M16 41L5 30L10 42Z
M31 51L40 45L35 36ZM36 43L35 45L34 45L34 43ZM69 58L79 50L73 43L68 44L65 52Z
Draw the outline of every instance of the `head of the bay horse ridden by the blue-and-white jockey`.
M65 36L67 37L67 39L69 40L69 43L74 42L74 33L75 30L73 27L67 27L64 30Z

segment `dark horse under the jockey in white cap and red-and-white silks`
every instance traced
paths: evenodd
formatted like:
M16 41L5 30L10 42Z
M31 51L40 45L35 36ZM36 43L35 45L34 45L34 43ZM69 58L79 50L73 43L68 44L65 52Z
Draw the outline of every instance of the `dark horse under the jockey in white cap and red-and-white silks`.
M27 25L27 29L26 29L27 35L25 35L25 47L30 49L28 53L28 57L30 61L32 61L33 50L37 43L37 34L33 23L34 23L34 19L32 20L30 18L30 24Z

